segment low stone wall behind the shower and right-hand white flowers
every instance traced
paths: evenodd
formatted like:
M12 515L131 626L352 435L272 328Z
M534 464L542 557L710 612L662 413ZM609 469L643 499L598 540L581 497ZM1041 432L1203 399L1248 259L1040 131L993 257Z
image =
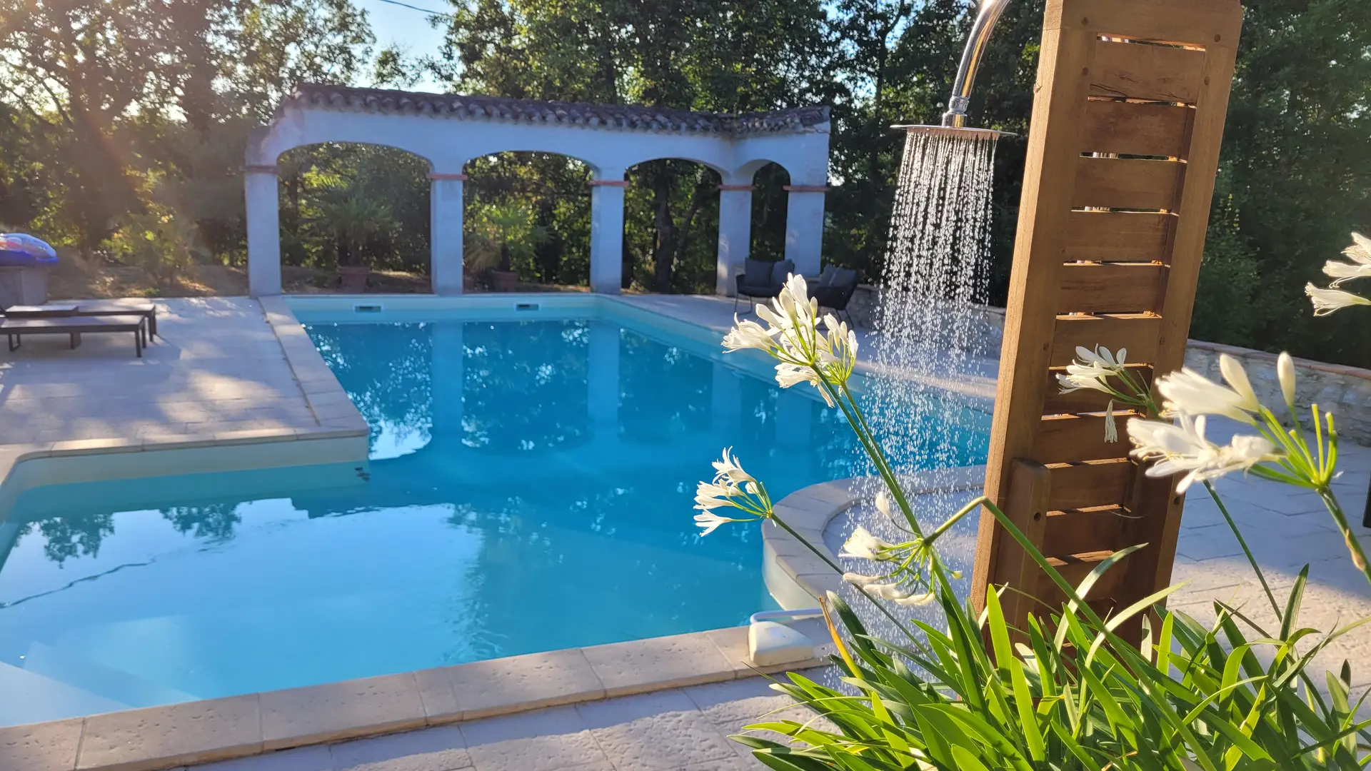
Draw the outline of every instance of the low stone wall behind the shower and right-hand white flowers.
M876 302L877 291L875 287L868 284L858 287L847 306L853 322L871 328ZM990 325L1004 329L1004 309L987 306L980 310ZM998 344L998 340L994 344ZM1186 348L1186 366L1206 377L1220 380L1219 354L1228 354L1242 361L1257 396L1263 403L1275 409L1276 414L1283 413L1281 405L1285 403L1285 396L1282 396L1281 383L1276 380L1275 354L1190 340ZM1294 359L1294 365L1296 381L1298 383L1296 406L1308 410L1311 403L1316 403L1320 409L1331 410L1339 436L1360 444L1371 444L1371 370L1300 358ZM1309 421L1307 416L1302 416L1302 420Z

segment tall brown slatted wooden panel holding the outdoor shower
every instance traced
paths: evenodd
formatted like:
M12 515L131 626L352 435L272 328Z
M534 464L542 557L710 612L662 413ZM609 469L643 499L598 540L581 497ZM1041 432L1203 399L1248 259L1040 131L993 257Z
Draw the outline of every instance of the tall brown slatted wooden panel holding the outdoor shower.
M1127 348L1148 381L1182 366L1241 25L1238 0L1047 0L986 494L1072 582L1148 543L1090 593L1101 610L1169 583L1183 501L1128 460L1128 416L1105 442L1106 396L1056 373L1076 346ZM986 514L976 602L1005 583L1061 606Z

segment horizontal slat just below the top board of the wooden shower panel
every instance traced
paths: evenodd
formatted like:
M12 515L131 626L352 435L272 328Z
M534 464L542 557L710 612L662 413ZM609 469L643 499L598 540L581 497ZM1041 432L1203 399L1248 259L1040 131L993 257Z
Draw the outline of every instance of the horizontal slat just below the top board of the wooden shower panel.
M1142 43L1095 43L1090 96L1193 104L1204 88L1204 51Z

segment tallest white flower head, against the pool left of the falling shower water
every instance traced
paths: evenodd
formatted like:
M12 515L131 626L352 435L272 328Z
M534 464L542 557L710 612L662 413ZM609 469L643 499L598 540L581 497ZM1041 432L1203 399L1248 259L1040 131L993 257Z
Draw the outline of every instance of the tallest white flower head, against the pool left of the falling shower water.
M809 383L834 406L834 395L825 388L847 381L857 365L857 333L838 321L834 314L824 317L824 332L818 331L818 302L810 299L803 276L791 274L772 307L757 306L755 321L733 318L733 328L724 336L724 348L739 351L754 348L766 351L776 365L776 383L790 388Z

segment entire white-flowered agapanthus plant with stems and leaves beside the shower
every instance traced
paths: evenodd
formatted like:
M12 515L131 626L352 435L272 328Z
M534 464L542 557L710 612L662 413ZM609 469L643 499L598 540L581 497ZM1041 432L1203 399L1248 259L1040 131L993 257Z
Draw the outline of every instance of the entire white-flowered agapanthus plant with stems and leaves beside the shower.
M1350 700L1350 665L1344 663L1341 672L1318 680L1309 672L1320 652L1366 620L1324 635L1301 627L1308 568L1283 604L1268 591L1278 628L1265 628L1223 602L1215 602L1217 620L1208 627L1160 606L1179 586L1101 617L1083 597L1108 569L1145 545L1115 553L1071 586L987 498L972 501L925 532L847 387L856 365L856 335L832 316L823 320L824 331L818 329L817 306L808 299L801 277L791 277L773 306L758 306L757 316L765 325L738 322L724 339L725 348L766 351L777 359L781 387L809 383L829 406L840 409L884 482L877 509L901 520L912 534L906 542L890 543L858 528L845 545L847 556L882 568L877 575L847 572L845 580L860 587L903 637L876 637L840 597L829 593L823 605L845 687L798 674L772 687L806 704L836 730L816 720L749 726L749 731L775 731L790 739L733 737L751 746L764 764L781 771L1265 771L1366 766L1371 720L1356 719L1361 701ZM1121 365L1123 351L1111 357ZM1089 364L1078 362L1079 368ZM1204 406L1202 399L1187 399L1194 392L1180 387L1198 388L1196 383L1174 380L1172 386L1158 383L1168 396L1163 410ZM1211 396L1211 407L1246 403L1239 390L1209 386L1204 392ZM1138 396L1120 390L1120 398L1130 395ZM1249 418L1256 412L1245 410ZM1190 418L1180 414L1182 423ZM1263 465L1270 479L1323 495L1322 480L1333 473L1337 458L1331 421L1327 435L1320 432L1316 449L1311 449L1297 429L1279 429L1279 442L1239 436L1228 447L1217 447L1204 443L1202 416L1200 420L1198 439L1194 431L1186 434L1169 423L1139 423L1134 435L1139 455L1161 461L1152 466L1153 473L1185 471L1189 480L1208 484L1223 473ZM1163 432L1161 425L1182 434ZM1265 428L1274 432L1279 425ZM749 475L736 457L725 451L714 469L714 479L702 482L696 494L701 513L695 520L706 534L725 523L768 520L843 572L776 516L765 484ZM1012 627L1001 609L1005 587L987 590L983 613L969 600L957 598L936 542L951 523L978 506L994 516L1065 594L1061 608L1042 608L1023 627ZM1231 517L1228 524L1238 532ZM1267 586L1250 551L1249 561ZM924 602L941 606L946 630L898 617L901 606ZM1135 616L1141 616L1141 643L1119 634Z

